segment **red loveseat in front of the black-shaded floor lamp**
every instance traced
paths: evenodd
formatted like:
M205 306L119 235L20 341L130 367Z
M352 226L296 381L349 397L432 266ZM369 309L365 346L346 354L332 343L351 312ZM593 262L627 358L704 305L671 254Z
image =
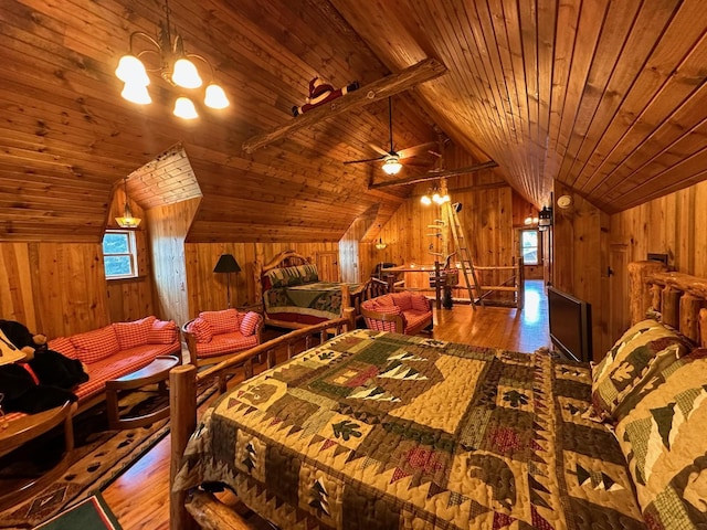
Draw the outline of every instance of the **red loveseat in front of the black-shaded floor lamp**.
M202 311L182 326L190 362L215 364L261 343L263 317L255 311Z

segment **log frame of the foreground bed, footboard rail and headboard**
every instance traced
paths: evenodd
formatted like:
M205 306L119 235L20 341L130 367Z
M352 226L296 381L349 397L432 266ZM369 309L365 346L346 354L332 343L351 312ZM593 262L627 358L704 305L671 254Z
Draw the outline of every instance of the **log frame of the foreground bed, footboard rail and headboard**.
M659 314L663 321L707 348L707 279L682 273L665 272L656 262L629 264L631 324L646 318L648 312ZM641 309L642 308L642 309ZM239 353L229 361L197 374L190 364L170 372L171 462L170 462L170 529L250 530L247 522L235 511L220 502L212 494L203 491L171 491L171 485L181 467L181 457L189 436L197 426L197 382L218 377L219 372L244 363L245 379L253 374L253 358L267 353L267 367L274 365L274 349L287 346L288 357L294 354L295 343L307 338L305 349L310 348L312 337L319 336L319 343L328 332L354 329L354 309L346 309L346 317L329 320L292 331L265 342L252 350Z

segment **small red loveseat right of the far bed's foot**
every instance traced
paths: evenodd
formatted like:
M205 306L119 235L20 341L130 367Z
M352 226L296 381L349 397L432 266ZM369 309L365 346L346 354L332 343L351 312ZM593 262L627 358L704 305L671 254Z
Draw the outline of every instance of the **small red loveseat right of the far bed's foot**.
M432 305L420 293L389 293L361 303L369 329L416 335L432 326Z

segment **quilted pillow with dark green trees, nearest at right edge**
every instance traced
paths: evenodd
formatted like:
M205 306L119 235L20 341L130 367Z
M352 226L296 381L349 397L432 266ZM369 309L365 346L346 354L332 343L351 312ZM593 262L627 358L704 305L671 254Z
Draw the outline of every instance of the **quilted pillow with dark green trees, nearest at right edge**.
M707 349L656 374L616 424L651 529L704 528L707 499Z

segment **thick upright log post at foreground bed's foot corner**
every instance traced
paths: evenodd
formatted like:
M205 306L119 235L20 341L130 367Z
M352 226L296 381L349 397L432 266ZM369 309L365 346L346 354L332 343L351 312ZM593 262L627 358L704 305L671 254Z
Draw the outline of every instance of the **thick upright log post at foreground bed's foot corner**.
M169 372L169 406L171 411L171 454L169 467L169 528L197 530L199 526L184 507L187 491L172 491L171 485L181 466L181 456L191 433L197 428L197 367L183 364Z

